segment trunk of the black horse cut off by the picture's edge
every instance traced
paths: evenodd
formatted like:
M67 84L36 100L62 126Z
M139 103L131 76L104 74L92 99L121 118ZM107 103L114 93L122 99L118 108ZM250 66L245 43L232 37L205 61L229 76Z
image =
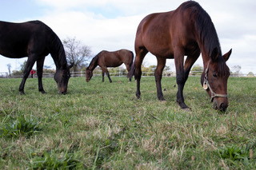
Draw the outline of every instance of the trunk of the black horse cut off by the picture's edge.
M11 58L29 53L46 54L46 25L34 22L0 22L0 54Z

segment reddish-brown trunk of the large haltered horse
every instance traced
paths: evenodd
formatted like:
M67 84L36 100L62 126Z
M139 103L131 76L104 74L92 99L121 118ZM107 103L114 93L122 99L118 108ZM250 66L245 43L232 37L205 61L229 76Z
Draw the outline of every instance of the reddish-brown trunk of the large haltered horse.
M145 47L155 56L173 58L176 47L186 49L194 42L193 29L190 12L182 11L181 7L147 15L138 26L135 50Z

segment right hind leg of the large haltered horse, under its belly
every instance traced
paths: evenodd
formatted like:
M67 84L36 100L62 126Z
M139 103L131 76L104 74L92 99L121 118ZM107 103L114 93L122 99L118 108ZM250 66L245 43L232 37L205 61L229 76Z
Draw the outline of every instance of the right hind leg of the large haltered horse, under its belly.
M154 78L155 78L155 83L157 86L157 93L158 93L158 99L160 101L166 101L165 98L163 97L162 94L162 85L161 85L161 80L162 80L162 70L166 66L166 59L162 57L157 57L158 59L158 65L157 68L154 71Z

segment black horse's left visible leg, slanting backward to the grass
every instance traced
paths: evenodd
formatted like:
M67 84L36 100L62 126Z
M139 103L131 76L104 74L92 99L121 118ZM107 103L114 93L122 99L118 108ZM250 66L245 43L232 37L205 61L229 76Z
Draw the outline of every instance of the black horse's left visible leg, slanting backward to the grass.
M30 71L31 71L31 69L34 65L34 62L35 62L34 56L28 57L28 59L26 61L25 69L23 71L22 82L21 82L21 84L19 85L19 88L18 88L18 91L19 91L20 94L25 94L24 93L24 86L25 86L27 77L29 77L29 75L30 75Z

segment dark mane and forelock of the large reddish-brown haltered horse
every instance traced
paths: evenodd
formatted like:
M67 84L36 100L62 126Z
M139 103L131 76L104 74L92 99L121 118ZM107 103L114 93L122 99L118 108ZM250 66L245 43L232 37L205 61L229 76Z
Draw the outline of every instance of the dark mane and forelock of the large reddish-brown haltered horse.
M212 57L214 49L218 50L218 57L211 58L212 61L218 63L218 73L225 76L229 73L229 69L226 66L226 61L222 57L222 49L218 40L217 31L215 30L214 23L211 21L210 15L206 13L206 10L202 9L202 6L198 2L189 1L183 3L182 10L190 9L190 16L195 18L196 30L198 30L199 41L204 45L206 53L209 57Z

